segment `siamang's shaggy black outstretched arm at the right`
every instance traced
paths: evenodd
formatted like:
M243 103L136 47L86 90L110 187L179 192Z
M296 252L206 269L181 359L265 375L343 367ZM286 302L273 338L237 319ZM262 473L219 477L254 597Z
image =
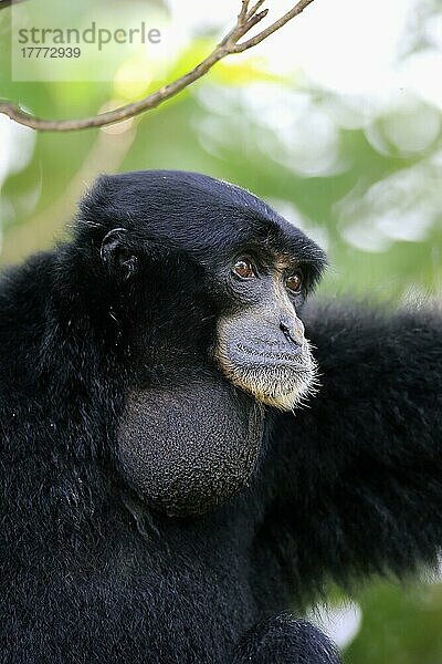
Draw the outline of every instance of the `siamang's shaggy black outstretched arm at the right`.
M306 330L322 386L308 408L271 416L261 485L270 487L269 544L304 588L324 575L345 582L434 561L442 314L333 305L307 313Z

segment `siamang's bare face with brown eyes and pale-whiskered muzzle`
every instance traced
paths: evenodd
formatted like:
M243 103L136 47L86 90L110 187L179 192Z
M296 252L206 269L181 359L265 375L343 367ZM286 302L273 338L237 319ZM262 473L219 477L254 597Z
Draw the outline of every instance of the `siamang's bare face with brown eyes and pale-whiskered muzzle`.
M223 374L256 401L295 407L315 382L316 365L297 317L308 266L287 255L241 253L229 276L235 310L220 318L215 356Z

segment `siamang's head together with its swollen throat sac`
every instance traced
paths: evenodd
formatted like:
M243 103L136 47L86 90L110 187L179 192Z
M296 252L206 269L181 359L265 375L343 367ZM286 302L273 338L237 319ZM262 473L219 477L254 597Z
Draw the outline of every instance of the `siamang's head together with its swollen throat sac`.
M196 174L102 179L82 212L125 351L123 473L170 516L207 511L250 480L263 405L291 409L314 385L298 312L325 256L262 200Z

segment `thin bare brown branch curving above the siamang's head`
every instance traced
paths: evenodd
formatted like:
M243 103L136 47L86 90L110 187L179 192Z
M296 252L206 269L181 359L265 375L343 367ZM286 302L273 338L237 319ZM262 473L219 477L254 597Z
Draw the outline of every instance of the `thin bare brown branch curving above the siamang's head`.
M0 101L0 113L3 113L11 120L22 124L32 129L40 132L72 132L76 129L86 129L91 127L103 127L113 123L122 122L128 117L135 117L140 113L156 108L166 100L175 96L192 83L201 79L204 74L212 69L217 62L233 53L242 53L248 49L261 43L264 39L280 30L283 25L288 23L294 17L298 15L304 9L313 2L313 0L299 0L292 10L281 17L277 21L269 25L262 32L259 32L251 39L241 42L240 40L250 32L250 30L260 23L266 15L269 10L264 9L259 11L265 0L257 0L252 8L250 8L250 0L242 0L241 11L238 15L234 28L220 41L215 49L208 55L202 62L200 62L190 72L164 85L156 92L152 92L148 96L138 102L133 102L119 108L107 111L98 115L91 117L83 117L80 120L44 120L36 117L30 113L27 113L19 104L14 104L8 101Z

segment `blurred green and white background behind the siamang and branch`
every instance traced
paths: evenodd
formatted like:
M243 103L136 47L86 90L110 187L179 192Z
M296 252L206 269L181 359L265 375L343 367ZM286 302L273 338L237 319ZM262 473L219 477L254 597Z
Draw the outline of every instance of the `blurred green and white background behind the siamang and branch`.
M38 2L28 0L30 15ZM107 2L115 27L122 4ZM139 98L206 55L239 4L125 0L126 17L160 27L161 48L109 62L108 81L88 81L87 62L84 81L56 83L11 81L11 10L2 9L0 97L60 118ZM74 25L87 24L77 3L60 6ZM291 2L267 6L276 17ZM29 61L30 79L39 66ZM327 249L323 295L392 305L440 299L441 111L440 0L315 0L269 41L139 118L35 134L0 116L0 262L63 238L98 173L182 168L250 188ZM436 575L404 585L373 579L352 596L334 589L332 598L312 618L348 664L442 663Z

